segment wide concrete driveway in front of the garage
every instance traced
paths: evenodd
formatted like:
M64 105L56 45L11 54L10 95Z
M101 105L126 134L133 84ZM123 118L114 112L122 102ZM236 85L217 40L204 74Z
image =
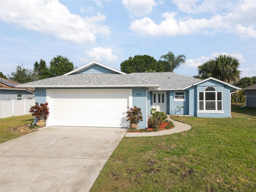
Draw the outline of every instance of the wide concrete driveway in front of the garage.
M89 191L124 135L122 128L50 126L2 143L0 191Z

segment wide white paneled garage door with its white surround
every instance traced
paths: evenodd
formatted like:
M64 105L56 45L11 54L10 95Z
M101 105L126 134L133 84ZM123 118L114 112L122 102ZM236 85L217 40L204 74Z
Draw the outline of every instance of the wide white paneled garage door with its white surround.
M47 124L128 127L125 112L129 104L132 106L131 94L131 89L48 89L50 115Z

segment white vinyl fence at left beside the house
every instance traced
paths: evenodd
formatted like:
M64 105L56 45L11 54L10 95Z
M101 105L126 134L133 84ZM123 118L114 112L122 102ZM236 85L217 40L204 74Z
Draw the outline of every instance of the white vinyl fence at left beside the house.
M0 101L0 118L29 114L35 99Z

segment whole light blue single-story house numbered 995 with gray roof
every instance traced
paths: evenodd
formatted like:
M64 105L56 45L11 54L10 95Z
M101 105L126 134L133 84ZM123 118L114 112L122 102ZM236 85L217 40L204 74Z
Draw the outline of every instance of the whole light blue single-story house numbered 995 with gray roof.
M35 88L35 102L48 102L50 125L128 127L127 106L140 107L143 122L156 108L167 114L199 117L230 117L230 90L226 82L204 80L172 72L126 74L92 61L62 76L25 83Z

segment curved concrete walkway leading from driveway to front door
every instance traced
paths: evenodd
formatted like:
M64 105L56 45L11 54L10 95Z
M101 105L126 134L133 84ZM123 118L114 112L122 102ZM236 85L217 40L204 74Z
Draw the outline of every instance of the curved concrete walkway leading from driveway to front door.
M186 123L174 121L169 117L167 119L174 123L174 127L172 129L158 131L158 132L149 132L149 133L145 133L145 132L144 133L126 133L125 136L126 137L150 137L150 136L159 136L159 135L170 135L173 133L179 133L179 132L187 131L191 129L191 126Z

